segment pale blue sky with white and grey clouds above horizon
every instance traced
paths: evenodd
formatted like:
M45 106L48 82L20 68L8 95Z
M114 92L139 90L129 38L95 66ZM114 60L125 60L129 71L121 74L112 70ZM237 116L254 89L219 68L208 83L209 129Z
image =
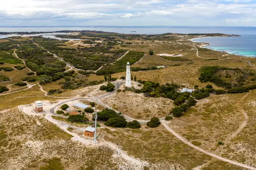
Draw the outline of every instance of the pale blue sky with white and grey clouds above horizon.
M0 26L256 26L256 0L1 0Z

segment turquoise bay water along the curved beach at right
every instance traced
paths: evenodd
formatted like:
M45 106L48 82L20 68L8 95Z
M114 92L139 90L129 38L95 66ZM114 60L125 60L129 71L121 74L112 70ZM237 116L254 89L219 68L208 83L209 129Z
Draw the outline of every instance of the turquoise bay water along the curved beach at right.
M200 38L193 41L210 43L204 48L244 57L256 57L256 34L241 34L241 37Z

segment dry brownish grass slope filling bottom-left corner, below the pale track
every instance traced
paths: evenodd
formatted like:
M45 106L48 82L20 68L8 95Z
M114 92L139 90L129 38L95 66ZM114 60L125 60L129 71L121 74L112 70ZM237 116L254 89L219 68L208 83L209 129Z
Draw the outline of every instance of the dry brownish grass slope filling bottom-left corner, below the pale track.
M68 170L117 170L117 164L123 165L107 147L86 147L74 142L69 134L47 120L25 115L17 109L0 112L0 125L0 131L5 134L0 139L4 143L0 150L1 170L38 170L46 164L45 159L53 157L60 158Z

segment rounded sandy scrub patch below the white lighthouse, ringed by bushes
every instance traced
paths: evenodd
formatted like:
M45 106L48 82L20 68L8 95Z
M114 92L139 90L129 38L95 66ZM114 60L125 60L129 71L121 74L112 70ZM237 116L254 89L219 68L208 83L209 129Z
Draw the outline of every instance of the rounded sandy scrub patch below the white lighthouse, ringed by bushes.
M106 105L134 119L148 120L151 117L165 117L174 108L172 100L166 98L145 97L125 91L102 99Z

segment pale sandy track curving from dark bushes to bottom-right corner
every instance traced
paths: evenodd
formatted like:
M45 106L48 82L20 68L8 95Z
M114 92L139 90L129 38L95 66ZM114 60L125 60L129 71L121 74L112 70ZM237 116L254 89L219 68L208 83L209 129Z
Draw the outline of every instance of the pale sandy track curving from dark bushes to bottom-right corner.
M213 153L209 153L209 152L207 152L207 151L205 151L205 150L203 150L203 149L201 149L201 148L195 146L194 144L190 143L190 142L187 141L185 138L183 138L182 136L180 136L179 134L177 134L174 130L172 130L172 129L166 124L166 121L161 120L161 123L162 123L162 125L163 125L164 127L166 127L166 129L167 129L169 132L171 132L174 136L176 136L176 137L177 137L178 139L180 139L182 142L184 142L185 144L189 145L190 147L195 148L196 150L199 150L199 151L202 152L202 153L205 153L205 154L207 154L207 155L209 155L209 156L212 156L212 157L214 157L214 158L216 158L216 159L219 159L219 160L221 160L221 161L225 161L225 162L228 162L228 163L230 163L230 164L237 165L237 166L239 166L239 167L244 167L244 168L247 168L247 169L249 169L249 170L256 170L256 168L250 167L250 166L248 166L248 165L246 165L246 164L240 164L240 163L238 163L238 162L231 161L231 160L229 160L229 159L226 159L226 158L222 158L222 157L220 157L220 156L217 156L217 155L215 155L215 154L213 154Z

